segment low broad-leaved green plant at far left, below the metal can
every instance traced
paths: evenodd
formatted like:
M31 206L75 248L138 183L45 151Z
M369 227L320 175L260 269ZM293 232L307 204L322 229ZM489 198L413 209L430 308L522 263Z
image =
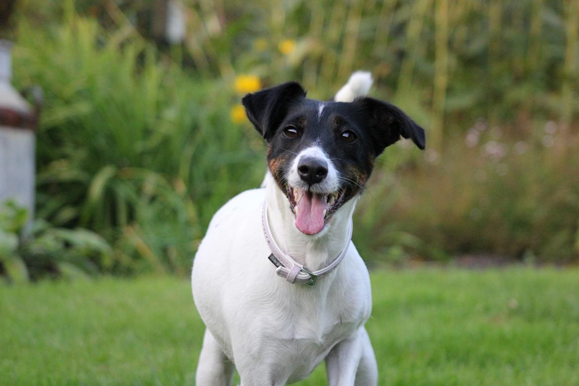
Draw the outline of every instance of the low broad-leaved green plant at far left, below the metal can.
M0 278L74 278L115 268L111 246L93 231L56 228L42 219L25 230L27 220L27 210L14 201L0 206Z

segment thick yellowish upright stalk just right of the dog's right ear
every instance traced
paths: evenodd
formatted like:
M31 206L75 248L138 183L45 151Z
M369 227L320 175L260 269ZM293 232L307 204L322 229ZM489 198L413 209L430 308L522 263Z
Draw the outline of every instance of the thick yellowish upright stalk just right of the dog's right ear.
M435 3L435 59L433 115L430 143L433 149L440 149L444 130L446 86L448 84L448 0Z

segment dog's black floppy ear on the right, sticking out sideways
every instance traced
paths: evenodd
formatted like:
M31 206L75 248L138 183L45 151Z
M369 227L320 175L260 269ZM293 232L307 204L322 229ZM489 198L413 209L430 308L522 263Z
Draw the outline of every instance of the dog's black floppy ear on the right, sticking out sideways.
M382 153L386 146L397 142L400 137L411 138L416 146L424 150L426 146L424 129L401 109L369 97L359 98L353 103L360 105L368 113L369 128L375 141L376 156Z

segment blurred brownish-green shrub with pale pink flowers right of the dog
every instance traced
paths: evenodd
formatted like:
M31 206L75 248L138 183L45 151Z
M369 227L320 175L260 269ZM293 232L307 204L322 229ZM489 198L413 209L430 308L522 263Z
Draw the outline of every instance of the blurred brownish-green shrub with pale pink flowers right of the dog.
M358 211L374 235L368 255L383 258L380 246L396 244L403 257L444 259L442 250L576 261L579 139L551 121L533 129L516 138L521 129L479 121L443 153L426 152L415 166L380 173Z

